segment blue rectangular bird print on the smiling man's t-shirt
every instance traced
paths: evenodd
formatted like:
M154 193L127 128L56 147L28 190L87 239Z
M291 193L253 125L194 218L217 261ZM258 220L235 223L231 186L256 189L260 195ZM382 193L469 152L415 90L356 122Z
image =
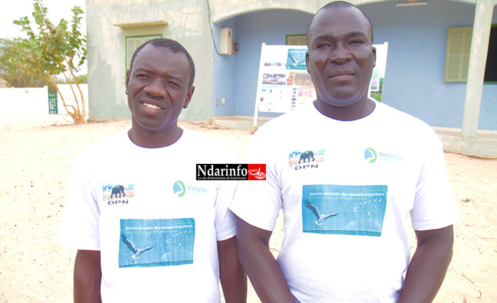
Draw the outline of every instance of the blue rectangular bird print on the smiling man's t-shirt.
M119 267L193 263L195 219L121 219Z

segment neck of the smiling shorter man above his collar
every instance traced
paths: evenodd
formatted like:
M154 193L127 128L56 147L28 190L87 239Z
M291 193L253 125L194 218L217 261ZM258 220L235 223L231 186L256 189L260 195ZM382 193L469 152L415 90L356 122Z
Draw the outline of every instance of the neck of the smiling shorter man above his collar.
M132 127L128 131L130 140L135 145L145 148L159 148L173 145L183 134L183 129L174 125L169 130L158 130L151 132L143 128Z

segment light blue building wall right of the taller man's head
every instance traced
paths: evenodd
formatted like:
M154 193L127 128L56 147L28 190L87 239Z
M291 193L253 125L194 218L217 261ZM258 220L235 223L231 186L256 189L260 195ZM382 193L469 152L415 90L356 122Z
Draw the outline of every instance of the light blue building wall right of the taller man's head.
M388 41L383 102L432 126L461 128L466 83L444 82L448 27L472 26L474 5L431 1L396 8L395 3L361 6L374 26L374 43ZM494 10L494 23L497 16ZM497 130L497 85L485 84L479 127ZM493 100L493 101L492 101ZM494 114L489 114L493 112Z

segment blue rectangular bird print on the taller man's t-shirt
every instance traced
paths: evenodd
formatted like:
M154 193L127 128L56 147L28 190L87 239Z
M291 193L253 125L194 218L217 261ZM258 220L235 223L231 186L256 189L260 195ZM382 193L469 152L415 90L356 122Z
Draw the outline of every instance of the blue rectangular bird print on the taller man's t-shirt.
M302 232L380 237L386 185L302 186Z

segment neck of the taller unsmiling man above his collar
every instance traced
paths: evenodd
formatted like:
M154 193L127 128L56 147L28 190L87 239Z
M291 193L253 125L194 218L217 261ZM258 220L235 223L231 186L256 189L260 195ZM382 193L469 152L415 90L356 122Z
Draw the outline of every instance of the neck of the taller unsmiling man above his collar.
M324 101L316 99L315 108L326 117L339 121L354 121L362 119L374 111L376 104L369 98L365 98L350 106L332 106Z

